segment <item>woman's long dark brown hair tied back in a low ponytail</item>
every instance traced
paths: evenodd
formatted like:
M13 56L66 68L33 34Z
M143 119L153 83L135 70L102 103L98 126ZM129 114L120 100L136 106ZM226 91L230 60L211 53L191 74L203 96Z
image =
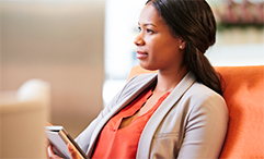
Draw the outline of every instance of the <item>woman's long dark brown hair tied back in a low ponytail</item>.
M161 19L170 26L175 37L185 40L184 60L186 65L203 83L222 95L220 74L217 74L204 56L216 41L216 21L205 0L148 0L159 11ZM146 3L146 4L147 4Z

